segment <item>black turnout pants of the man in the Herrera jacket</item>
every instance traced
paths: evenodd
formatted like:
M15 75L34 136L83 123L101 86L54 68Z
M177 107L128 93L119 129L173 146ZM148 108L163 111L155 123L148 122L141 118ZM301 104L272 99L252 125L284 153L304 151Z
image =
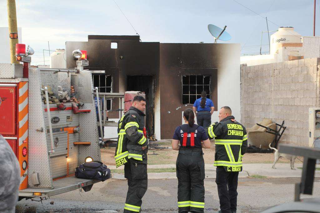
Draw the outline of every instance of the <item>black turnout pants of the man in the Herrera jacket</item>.
M124 164L124 177L128 179L124 212L140 212L141 199L148 188L147 162L129 159Z

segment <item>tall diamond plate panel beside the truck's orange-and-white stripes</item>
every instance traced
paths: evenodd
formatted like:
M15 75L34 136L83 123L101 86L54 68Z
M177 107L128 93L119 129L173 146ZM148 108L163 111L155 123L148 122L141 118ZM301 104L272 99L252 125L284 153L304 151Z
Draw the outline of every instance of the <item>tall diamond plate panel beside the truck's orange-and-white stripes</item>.
M32 185L31 178L28 179L28 187L52 188L52 177L49 163L46 131L43 128L44 110L41 100L41 80L39 69L29 69L29 153L28 173L39 173L37 186Z

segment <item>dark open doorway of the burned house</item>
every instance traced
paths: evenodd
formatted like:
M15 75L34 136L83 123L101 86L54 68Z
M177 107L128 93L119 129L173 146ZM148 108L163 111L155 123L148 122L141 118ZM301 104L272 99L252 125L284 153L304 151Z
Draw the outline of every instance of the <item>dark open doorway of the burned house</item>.
M149 136L155 133L155 95L152 75L128 75L127 91L141 91L146 94L146 129Z

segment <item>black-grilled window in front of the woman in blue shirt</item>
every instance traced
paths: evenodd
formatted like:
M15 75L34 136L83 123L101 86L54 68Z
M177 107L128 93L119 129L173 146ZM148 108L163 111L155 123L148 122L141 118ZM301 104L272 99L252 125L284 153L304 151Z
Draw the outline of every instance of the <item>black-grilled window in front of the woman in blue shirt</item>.
M207 93L211 98L210 75L183 75L182 76L182 104L194 104L197 98L201 98L201 92Z

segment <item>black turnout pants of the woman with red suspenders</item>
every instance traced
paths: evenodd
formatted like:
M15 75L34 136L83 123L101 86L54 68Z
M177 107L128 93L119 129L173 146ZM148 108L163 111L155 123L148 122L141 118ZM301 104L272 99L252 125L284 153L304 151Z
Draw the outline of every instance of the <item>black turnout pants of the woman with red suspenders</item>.
M180 148L177 158L179 212L204 212L204 159L201 148Z

